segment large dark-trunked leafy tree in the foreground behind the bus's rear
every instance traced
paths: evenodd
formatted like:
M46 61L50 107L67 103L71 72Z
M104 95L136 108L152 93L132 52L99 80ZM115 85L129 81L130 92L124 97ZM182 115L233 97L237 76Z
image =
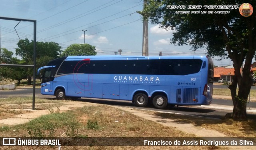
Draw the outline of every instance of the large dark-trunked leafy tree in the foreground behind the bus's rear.
M246 2L256 10L255 0ZM212 57L220 56L232 60L235 75L229 88L234 104L232 118L235 120L247 119L246 103L252 85L250 66L256 50L256 13L253 12L248 17L242 16L239 6L243 3L243 0L148 0L146 8L141 12L144 18L152 23L160 24L167 30L174 30L170 38L171 44L189 44L194 51L205 47ZM238 7L234 7L236 9L207 7L210 5ZM185 8L181 9L178 6ZM202 8L188 9L188 6L202 6ZM178 11L200 11L200 14L178 14ZM207 13L202 14L203 11ZM217 13L221 11L227 13ZM241 72L243 62L245 63Z

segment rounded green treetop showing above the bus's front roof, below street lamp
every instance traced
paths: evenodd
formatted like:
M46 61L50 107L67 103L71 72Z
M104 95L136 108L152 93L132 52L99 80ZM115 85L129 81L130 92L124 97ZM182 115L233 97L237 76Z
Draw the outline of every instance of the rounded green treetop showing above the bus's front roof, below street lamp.
M96 55L95 46L90 44L71 44L63 51L62 56L92 56Z

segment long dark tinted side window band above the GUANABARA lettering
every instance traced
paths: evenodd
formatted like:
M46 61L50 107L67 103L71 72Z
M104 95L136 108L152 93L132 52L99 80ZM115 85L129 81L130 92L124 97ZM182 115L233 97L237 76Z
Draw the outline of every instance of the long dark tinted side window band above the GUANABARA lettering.
M72 73L187 75L199 72L201 66L200 59L64 61L57 75Z

